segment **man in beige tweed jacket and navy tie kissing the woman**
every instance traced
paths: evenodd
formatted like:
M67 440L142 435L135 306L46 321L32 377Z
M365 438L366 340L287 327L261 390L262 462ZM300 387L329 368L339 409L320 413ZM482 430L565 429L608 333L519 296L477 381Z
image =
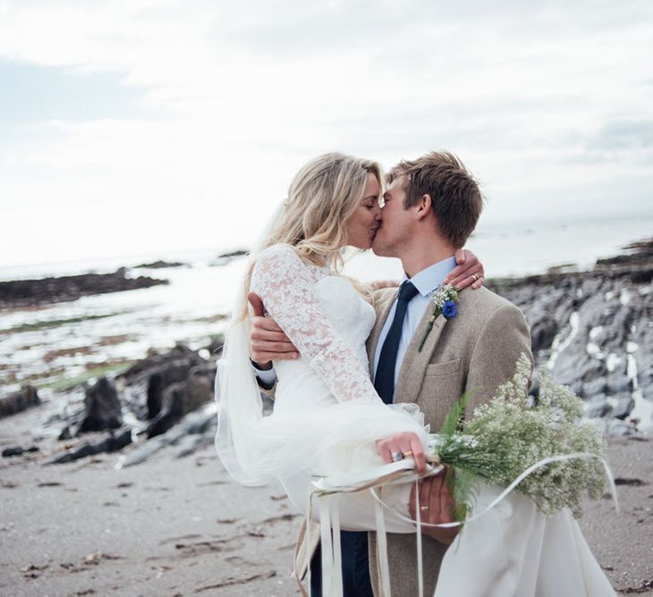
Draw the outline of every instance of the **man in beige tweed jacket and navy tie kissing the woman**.
M416 402L436 432L462 393L474 392L467 409L470 415L513 375L521 353L530 356L530 333L521 311L487 289L462 291L455 315L448 319L438 315L431 321L434 306L429 297L454 269L454 252L469 238L482 208L479 187L456 156L433 152L397 164L388 174L382 202L382 223L372 248L378 256L399 257L406 280L399 292L384 289L375 294L377 323L368 341L370 374L385 401ZM259 362L276 351L280 354L275 358L292 354L292 345L278 331L272 332L270 325L263 318L254 324L251 353ZM441 476L421 484L420 503L422 521L452 520L451 500ZM423 542L424 590L433 594L454 533L426 527L423 533L428 535ZM355 555L360 576L366 562L364 554ZM388 534L387 556L392 593L417 594L414 535ZM378 594L373 533L369 534L369 571ZM361 590L347 597L365 594Z

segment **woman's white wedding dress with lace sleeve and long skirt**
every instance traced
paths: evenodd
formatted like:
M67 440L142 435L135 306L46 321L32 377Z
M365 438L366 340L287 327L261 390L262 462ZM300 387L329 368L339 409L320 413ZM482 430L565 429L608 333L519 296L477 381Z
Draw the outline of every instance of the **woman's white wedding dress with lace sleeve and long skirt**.
M267 458L261 470L271 469L305 513L311 475L376 466L377 439L425 431L414 413L378 398L365 348L374 309L347 278L305 264L292 248L275 246L258 256L250 289L301 352L298 360L275 363L274 414L257 423L256 433L270 436L268 450L260 446ZM263 425L275 426L278 437ZM415 533L413 524L397 516L408 517L410 490L410 483L384 490L388 532ZM499 491L484 488L476 512ZM369 492L341 494L338 500L341 528L377 528ZM614 594L571 514L544 517L514 492L464 527L446 552L436 591L437 597Z

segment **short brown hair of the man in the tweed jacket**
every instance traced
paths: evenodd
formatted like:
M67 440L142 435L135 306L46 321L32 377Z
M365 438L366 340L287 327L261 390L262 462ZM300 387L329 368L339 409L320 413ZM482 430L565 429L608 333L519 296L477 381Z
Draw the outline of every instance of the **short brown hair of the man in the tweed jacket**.
M461 160L448 151L432 151L416 160L403 160L387 174L388 184L405 176L404 207L429 195L437 228L454 248L462 248L479 222L483 196Z

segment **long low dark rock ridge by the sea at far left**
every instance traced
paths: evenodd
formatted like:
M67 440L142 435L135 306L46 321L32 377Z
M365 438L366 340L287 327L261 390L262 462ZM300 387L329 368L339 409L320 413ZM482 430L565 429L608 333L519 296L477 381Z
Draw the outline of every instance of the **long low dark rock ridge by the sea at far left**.
M124 267L114 273L81 273L41 280L0 282L0 308L60 303L91 294L149 288L167 283L167 280L157 280L148 276L130 278Z

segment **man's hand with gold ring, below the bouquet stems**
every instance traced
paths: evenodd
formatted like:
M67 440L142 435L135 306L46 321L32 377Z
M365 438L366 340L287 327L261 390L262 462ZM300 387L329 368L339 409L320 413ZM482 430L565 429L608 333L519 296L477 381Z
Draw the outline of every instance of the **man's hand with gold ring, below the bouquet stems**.
M454 499L446 490L445 469L441 473L429 476L420 483L420 519L428 525L442 525L454 521ZM417 520L417 492L412 485L408 510L411 518ZM422 526L421 532L446 545L454 542L459 526L443 528L440 526Z

